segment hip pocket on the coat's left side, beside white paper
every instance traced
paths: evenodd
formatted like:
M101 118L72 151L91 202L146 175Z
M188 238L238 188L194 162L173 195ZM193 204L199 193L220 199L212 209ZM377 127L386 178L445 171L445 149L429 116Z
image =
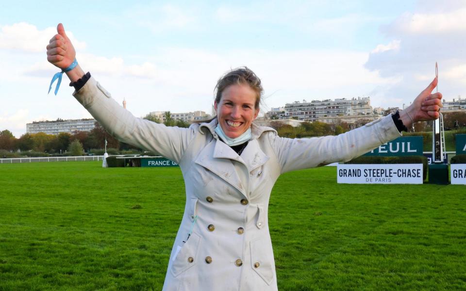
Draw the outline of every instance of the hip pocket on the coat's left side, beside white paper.
M187 269L196 265L200 260L198 258L198 249L199 249L200 236L196 233L191 233L189 239L183 244L183 247L180 249L178 254L171 265L170 272L171 275L177 277Z

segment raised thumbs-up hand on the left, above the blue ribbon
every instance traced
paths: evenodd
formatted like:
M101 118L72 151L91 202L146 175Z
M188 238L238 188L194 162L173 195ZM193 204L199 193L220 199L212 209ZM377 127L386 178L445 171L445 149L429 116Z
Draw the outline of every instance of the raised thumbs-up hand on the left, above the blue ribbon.
M65 33L63 24L58 24L57 32L47 45L47 61L60 69L65 69L73 63L76 51Z

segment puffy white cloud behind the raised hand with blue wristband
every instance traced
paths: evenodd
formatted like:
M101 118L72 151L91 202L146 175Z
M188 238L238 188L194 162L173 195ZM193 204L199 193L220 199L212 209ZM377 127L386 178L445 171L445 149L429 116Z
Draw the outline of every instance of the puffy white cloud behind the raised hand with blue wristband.
M44 53L50 38L57 33L54 27L38 30L36 26L25 22L4 25L0 28L0 49L25 52ZM67 32L67 36L75 49L85 49L86 44L75 39L72 32Z

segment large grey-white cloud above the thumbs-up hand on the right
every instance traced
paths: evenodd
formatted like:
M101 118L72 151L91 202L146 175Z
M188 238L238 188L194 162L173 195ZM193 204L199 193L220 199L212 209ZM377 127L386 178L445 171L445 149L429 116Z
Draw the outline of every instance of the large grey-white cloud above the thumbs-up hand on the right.
M466 2L455 2L455 9L448 3L443 9L426 6L428 3L381 28L392 41L373 49L365 67L383 78L402 80L379 90L381 97L401 98L409 104L435 77L435 62L444 99L466 94Z

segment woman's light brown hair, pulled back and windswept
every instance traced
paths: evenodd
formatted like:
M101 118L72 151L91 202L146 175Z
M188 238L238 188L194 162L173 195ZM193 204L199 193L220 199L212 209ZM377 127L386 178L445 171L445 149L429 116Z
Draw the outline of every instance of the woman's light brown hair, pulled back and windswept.
M257 77L250 68L244 66L232 69L218 79L214 91L216 104L220 103L223 91L230 85L248 85L252 90L254 90L254 92L256 92L254 109L259 109L264 88L262 88L261 79L259 79L259 77ZM209 123L215 118L216 116L208 120L195 121L194 123Z

